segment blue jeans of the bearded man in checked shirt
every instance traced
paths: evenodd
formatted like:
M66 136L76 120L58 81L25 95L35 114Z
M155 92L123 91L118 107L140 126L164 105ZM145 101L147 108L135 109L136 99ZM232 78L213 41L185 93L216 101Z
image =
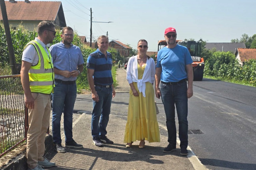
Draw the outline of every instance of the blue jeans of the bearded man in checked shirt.
M54 143L61 143L60 136L60 119L62 112L64 114L64 133L65 142L73 140L72 133L72 120L73 109L76 99L76 84L62 84L56 83L54 87L54 93L52 94L53 102L53 141Z

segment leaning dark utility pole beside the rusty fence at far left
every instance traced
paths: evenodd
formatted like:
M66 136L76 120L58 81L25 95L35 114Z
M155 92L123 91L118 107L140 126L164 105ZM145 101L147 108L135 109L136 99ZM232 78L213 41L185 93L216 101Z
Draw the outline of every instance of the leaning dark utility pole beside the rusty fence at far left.
M12 70L12 74L15 75L15 74L17 74L16 62L15 62L15 57L14 57L12 37L11 37L10 28L9 28L9 22L8 22L8 17L7 17L7 13L6 13L6 6L5 6L4 0L0 0L0 6L1 6L1 11L2 11L6 41L7 41L8 51L9 51L11 70Z

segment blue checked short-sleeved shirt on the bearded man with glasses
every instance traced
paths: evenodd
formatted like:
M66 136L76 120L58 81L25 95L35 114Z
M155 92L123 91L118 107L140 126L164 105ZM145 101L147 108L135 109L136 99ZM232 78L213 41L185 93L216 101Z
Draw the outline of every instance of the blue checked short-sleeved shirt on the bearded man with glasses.
M69 48L60 42L49 48L52 58L53 67L59 70L74 71L78 65L84 64L84 58L79 47L71 44ZM74 81L77 77L66 78L63 75L55 74L55 79L62 81Z

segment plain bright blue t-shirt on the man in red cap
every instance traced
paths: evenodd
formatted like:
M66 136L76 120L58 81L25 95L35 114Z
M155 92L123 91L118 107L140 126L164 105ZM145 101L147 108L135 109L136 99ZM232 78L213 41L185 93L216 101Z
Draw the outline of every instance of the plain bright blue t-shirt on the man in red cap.
M156 67L162 67L161 81L178 82L187 78L186 65L193 63L188 49L181 45L164 47L157 53Z

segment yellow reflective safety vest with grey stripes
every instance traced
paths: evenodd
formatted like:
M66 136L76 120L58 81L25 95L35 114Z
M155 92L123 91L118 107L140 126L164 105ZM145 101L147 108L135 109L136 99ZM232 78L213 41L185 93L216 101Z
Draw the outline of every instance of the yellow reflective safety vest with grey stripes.
M31 66L28 72L30 90L31 92L51 94L53 93L54 87L54 72L51 53L46 47L48 55L44 47L35 40L30 41L24 49L30 44L35 47L39 56L38 64Z

